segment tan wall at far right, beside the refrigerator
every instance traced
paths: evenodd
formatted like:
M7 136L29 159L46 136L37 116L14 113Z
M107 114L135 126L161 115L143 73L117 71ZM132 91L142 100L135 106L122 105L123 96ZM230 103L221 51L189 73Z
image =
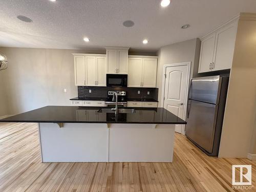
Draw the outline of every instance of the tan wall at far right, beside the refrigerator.
M256 152L256 15L239 20L230 73L219 157L247 157ZM252 146L251 146L252 145Z

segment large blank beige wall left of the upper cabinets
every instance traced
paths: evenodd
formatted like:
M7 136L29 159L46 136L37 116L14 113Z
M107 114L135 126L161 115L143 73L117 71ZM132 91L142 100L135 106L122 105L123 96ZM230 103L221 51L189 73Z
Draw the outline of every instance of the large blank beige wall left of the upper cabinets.
M33 110L45 105L70 105L77 96L74 60L71 53L86 51L61 49L0 48L8 57L5 79L6 99L0 94L0 116ZM67 89L67 93L63 89ZM1 92L2 92L1 86ZM3 101L5 100L5 102ZM2 108L6 103L6 107ZM4 109L4 110L3 110Z

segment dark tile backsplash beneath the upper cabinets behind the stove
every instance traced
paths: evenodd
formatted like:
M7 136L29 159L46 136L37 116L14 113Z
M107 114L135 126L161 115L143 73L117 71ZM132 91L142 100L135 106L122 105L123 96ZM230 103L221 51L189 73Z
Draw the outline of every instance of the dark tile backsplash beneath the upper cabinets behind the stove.
M143 98L143 99L158 99L158 88L114 88L114 87L85 87L78 86L78 97L108 97L108 91L121 90L126 91L127 99ZM89 93L92 90L92 93ZM138 94L140 91L140 94ZM150 92L147 95L147 92Z

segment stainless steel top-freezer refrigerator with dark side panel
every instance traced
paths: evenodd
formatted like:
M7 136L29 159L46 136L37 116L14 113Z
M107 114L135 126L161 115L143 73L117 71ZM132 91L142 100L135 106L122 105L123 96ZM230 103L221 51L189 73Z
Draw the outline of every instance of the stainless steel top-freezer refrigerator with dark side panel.
M218 156L228 77L190 80L185 135L209 156Z

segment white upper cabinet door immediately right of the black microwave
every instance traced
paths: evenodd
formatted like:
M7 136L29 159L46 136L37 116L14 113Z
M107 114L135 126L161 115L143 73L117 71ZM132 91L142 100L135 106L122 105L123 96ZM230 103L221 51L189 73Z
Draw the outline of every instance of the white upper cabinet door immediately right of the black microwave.
M128 60L128 87L141 87L143 59L132 57Z

